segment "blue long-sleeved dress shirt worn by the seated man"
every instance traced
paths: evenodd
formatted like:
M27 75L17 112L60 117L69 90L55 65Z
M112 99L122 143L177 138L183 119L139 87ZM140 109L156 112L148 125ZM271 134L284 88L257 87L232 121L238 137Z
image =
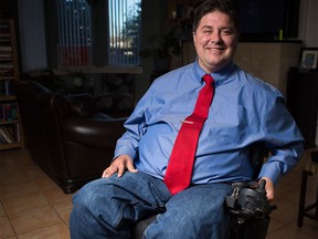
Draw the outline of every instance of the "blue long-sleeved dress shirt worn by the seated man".
M181 127L190 115L205 72L195 61L157 79L125 123L115 157L134 158L138 170L163 179ZM212 73L215 94L200 134L192 184L250 180L248 146L264 142L272 154L259 177L274 184L303 154L303 136L272 85L233 62Z

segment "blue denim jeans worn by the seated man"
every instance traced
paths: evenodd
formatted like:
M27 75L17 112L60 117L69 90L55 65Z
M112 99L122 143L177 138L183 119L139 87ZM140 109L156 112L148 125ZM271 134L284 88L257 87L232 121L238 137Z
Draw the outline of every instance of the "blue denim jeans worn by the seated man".
M131 224L161 212L144 238L225 238L230 215L224 207L231 185L192 186L172 196L165 183L144 173L126 172L85 185L73 198L73 239L130 238Z

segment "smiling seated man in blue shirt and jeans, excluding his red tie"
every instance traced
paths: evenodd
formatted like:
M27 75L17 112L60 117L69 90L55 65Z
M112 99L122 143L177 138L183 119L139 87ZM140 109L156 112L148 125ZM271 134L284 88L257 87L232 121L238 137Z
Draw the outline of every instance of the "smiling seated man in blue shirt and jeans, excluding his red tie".
M208 0L194 12L194 63L153 82L125 123L115 159L103 177L74 197L72 238L129 238L131 224L161 212L144 238L224 238L231 183L252 179L248 147L272 152L259 178L268 200L274 185L303 153L303 137L282 94L233 63L239 39L231 1ZM169 158L184 118L192 114L203 75L214 79L214 96L201 129L190 185L170 193ZM186 150L186 148L184 148ZM173 181L173 180L172 180Z

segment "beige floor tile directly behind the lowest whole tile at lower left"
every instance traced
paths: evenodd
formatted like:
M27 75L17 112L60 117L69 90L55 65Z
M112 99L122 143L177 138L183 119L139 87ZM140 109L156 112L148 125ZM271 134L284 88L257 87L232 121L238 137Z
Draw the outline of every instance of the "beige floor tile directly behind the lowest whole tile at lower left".
M50 206L46 198L40 193L3 199L3 205L9 216Z

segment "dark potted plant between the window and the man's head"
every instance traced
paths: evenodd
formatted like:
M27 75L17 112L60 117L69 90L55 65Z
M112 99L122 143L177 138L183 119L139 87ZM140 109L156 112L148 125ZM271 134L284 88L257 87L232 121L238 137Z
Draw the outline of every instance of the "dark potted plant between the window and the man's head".
M180 40L169 32L165 35L152 34L147 39L147 46L139 53L141 58L152 58L153 70L167 72L172 55L181 54Z

